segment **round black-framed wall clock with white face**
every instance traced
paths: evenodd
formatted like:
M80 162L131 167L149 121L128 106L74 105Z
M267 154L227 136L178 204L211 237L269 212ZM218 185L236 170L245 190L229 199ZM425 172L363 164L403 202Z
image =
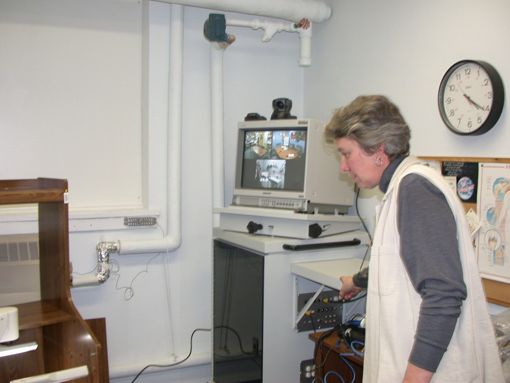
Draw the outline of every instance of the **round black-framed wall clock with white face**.
M443 76L438 92L439 113L454 133L487 133L503 110L505 92L497 70L489 63L462 60Z

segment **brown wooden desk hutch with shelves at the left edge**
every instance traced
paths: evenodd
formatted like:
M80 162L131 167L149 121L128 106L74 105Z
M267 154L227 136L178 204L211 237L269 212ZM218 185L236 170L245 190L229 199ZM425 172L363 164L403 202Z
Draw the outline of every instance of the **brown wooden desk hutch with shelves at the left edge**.
M108 382L104 319L85 321L71 298L67 180L0 181L0 204L37 204L41 300L18 307L19 339L38 348L0 357L0 381L86 365L77 383Z

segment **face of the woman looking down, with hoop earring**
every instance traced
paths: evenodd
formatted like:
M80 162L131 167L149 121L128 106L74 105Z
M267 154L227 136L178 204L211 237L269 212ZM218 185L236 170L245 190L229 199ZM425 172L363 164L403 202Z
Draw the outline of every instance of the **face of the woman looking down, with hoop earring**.
M382 172L389 164L388 156L381 148L372 155L366 154L353 139L342 137L336 138L335 143L342 159L340 161L340 170L347 173L350 178L361 188L371 189L379 184ZM377 166L379 159L382 161Z

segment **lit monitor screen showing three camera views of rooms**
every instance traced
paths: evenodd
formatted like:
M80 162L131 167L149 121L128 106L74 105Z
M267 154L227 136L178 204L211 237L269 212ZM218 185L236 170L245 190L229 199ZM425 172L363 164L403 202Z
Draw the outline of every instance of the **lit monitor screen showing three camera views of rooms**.
M245 130L241 187L302 192L307 129Z

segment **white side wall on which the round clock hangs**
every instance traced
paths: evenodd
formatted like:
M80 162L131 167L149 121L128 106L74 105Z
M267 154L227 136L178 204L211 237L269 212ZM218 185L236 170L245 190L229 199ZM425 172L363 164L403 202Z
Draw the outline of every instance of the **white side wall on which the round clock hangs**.
M464 59L487 61L497 68L504 84L510 82L510 3L328 3L333 7L331 17L314 26L314 65L306 71L304 81L305 114L327 121L334 108L358 95L382 93L399 106L411 127L411 154L509 157L506 106L488 133L458 136L440 119L437 92L446 70ZM378 190L360 194L360 210L370 229L379 197Z

